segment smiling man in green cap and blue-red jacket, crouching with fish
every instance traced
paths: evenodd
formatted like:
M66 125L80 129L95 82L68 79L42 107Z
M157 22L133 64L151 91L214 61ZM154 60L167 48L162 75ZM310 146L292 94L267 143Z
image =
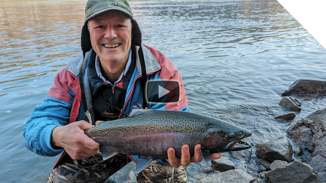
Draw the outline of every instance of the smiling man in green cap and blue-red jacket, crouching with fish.
M83 55L60 71L48 97L33 111L23 129L25 145L43 156L64 151L49 176L52 182L104 182L137 156L117 154L108 160L98 155L99 144L84 134L95 121L124 118L132 109L189 111L182 78L161 52L141 45L141 32L127 1L89 0L82 28ZM148 102L146 81L178 81L178 102ZM190 157L167 150L168 160L152 162L137 182L186 182L185 167L202 161L200 145ZM212 159L219 158L212 154ZM152 171L152 167L160 171ZM114 182L114 180L111 180Z

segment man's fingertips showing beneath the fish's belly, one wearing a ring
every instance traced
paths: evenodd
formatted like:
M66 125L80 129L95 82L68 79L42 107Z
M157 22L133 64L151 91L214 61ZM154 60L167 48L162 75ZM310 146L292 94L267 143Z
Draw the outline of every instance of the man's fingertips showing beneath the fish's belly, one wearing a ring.
M211 160L215 160L220 158L221 155L219 153L213 153L211 154ZM181 148L181 159L177 158L175 156L175 151L173 148L168 149L168 158L167 161L174 167L178 168L179 166L188 166L190 163L199 163L203 160L201 157L201 145L197 144L195 146L195 154L194 156L190 157L190 152L189 152L189 146L188 145L183 145Z

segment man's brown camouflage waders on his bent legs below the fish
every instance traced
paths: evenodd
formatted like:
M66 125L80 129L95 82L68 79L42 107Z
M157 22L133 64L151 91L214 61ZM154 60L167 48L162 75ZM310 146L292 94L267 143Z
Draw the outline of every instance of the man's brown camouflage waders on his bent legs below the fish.
M93 155L84 160L68 159L54 168L47 183L103 183L131 160L126 155L117 154L103 161L102 156ZM158 161L150 163L137 176L138 183L185 183L185 168L173 168Z

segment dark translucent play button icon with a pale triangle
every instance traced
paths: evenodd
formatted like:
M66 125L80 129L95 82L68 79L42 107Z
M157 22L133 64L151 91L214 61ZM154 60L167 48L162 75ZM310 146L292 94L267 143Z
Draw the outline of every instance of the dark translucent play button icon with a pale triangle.
M178 102L180 96L179 82L170 80L151 80L147 82L146 98L151 103Z

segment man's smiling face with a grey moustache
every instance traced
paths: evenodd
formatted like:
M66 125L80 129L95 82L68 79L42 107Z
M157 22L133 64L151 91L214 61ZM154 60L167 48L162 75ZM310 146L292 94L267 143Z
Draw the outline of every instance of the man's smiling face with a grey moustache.
M88 30L94 51L101 63L125 62L131 46L131 22L120 11L107 11L88 22Z

